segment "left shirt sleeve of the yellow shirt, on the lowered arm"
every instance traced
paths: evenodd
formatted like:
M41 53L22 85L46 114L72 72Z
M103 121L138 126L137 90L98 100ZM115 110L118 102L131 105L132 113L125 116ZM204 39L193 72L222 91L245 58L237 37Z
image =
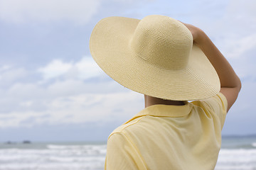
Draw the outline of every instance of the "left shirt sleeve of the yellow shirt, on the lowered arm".
M116 132L110 135L107 141L105 169L146 170L146 166L141 155L124 132Z

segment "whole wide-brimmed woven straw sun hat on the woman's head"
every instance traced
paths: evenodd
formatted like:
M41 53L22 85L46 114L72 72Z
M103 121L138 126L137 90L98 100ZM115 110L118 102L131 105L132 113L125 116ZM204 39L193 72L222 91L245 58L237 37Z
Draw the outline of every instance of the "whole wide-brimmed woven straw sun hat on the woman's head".
M209 98L220 80L191 32L168 16L108 17L90 37L95 62L122 86L174 101Z

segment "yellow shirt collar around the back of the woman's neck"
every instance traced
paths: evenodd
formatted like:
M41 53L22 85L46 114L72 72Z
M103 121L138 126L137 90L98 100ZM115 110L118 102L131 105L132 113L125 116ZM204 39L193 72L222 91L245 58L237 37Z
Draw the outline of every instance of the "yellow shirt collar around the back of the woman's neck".
M189 103L188 101L186 101L186 104L183 106L152 105L147 108L144 108L142 111L137 113L137 115L134 115L134 117L128 122L145 115L151 115L156 117L171 117L171 118L183 117L185 115L188 115L188 113L191 112L191 109L192 109L192 104Z

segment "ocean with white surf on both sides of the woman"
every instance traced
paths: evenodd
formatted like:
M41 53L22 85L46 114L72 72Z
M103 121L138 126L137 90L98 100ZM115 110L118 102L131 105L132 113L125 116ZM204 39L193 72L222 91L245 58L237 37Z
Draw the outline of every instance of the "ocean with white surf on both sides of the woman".
M0 170L104 169L104 142L1 143ZM215 170L256 170L256 136L223 137Z

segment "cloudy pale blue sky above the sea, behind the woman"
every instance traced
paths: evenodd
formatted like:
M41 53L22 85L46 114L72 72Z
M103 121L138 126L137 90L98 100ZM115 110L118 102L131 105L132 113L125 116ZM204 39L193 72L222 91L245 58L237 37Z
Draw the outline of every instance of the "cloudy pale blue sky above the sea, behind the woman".
M223 135L256 134L256 1L0 0L0 142L106 141L144 108L90 55L102 18L159 14L204 30L242 81Z

